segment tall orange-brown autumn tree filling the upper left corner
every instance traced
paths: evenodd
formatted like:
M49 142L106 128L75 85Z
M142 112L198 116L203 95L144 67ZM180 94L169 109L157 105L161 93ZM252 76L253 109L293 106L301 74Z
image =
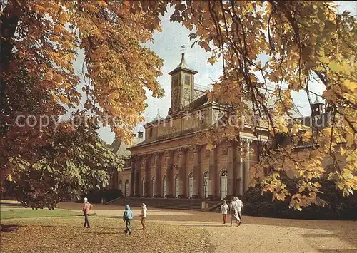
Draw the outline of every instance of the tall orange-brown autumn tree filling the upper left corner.
M76 152L74 145L78 148L86 145L85 139L71 143L72 135L81 135L83 130L66 133L56 129L68 108L81 105L83 94L86 114L109 124L124 140L131 139L132 130L143 120L145 89L158 98L164 95L156 81L161 76L163 61L142 46L151 40L154 29L160 29L159 13L163 13L166 3L156 4L157 9L127 1L0 2L1 182L4 178L11 181L11 176L12 182L18 184L19 180L31 181L34 170L48 170L34 174L36 178L51 174L56 177L54 182L50 180L52 184L61 182L58 173L69 170L75 174L70 178L79 180L77 185L89 186L89 182L81 179L89 173L88 167L83 166L89 164L81 167L66 164L69 159L66 155ZM84 73L76 73L74 69L80 48L84 51L84 62L79 64L83 64ZM85 78L83 87L81 76ZM19 117L27 122L19 124ZM48 120L46 128L41 127L44 118ZM66 135L67 140L58 140L59 135ZM59 157L56 161L53 154L44 154L49 146ZM108 155L99 146L93 152ZM74 162L73 156L70 157ZM33 182L28 186L32 189ZM53 197L59 185L53 189L50 186L46 182L42 190ZM41 192L40 186L35 190ZM29 194L25 198L31 203L35 200ZM51 205L49 200L40 202L39 205Z

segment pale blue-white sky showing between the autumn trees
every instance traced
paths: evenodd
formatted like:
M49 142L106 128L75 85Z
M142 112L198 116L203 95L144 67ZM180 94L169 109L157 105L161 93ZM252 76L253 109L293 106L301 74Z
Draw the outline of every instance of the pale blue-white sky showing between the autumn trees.
M353 15L357 14L357 1L337 1L337 3L340 5L338 12L342 13L344 10L347 10ZM213 83L213 81L217 81L222 73L221 62L218 61L218 63L213 66L207 63L207 59L211 57L211 53L204 51L201 47L196 45L191 48L192 41L188 38L191 31L179 23L170 22L171 13L172 9L169 10L161 20L162 32L156 31L154 33L154 43L146 43L146 46L149 46L160 58L164 59L164 67L161 70L163 76L158 78L158 81L165 90L165 97L161 99L152 98L151 92L147 94L148 99L146 103L149 106L144 112L146 122L150 122L154 119L157 113L159 113L161 117L165 117L168 113L171 100L171 76L169 76L168 73L176 68L181 61L181 46L187 46L185 59L188 66L198 71L195 75L195 83L209 88L210 84ZM83 56L79 53L77 63L81 62L83 62ZM75 64L75 66L76 65L79 67L78 64ZM81 66L78 71L81 71ZM324 86L321 83L315 82L311 86L311 90L321 94L324 90ZM292 93L292 97L298 110L300 110L303 115L309 115L311 113L306 93L294 92ZM311 100L315 100L315 98L311 98ZM145 122L138 125L136 131L144 130L142 127L144 124ZM98 132L106 143L113 142L114 133L111 133L109 127L100 128Z

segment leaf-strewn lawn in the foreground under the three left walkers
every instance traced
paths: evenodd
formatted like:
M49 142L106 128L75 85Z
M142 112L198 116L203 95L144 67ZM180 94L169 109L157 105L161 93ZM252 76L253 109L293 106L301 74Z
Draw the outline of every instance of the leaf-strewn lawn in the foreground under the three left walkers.
M1 220L3 252L211 252L208 232L201 228L178 227L139 221L131 222L132 234L124 233L120 218L83 217Z

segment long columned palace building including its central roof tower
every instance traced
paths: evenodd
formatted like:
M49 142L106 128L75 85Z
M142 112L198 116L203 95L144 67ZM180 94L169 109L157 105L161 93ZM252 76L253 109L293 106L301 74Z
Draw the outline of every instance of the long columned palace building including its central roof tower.
M249 187L249 170L256 162L257 140L250 128L240 133L241 148L225 142L213 150L193 138L218 123L224 108L210 102L204 90L194 85L197 71L181 62L171 75L171 107L165 118L158 114L138 132L134 145L116 139L111 145L124 156L124 170L111 177L110 187L125 197L177 197L224 199L241 196ZM311 105L312 115L321 113L321 103ZM300 118L296 115L294 118ZM262 141L264 141L262 139ZM264 172L262 172L264 173ZM264 175L261 175L262 177Z

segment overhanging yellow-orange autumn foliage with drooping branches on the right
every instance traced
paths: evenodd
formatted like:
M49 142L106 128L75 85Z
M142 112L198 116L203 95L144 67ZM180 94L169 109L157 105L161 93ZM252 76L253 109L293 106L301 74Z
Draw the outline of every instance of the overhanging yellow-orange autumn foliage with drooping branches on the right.
M258 142L260 161L251 170L252 185L258 172L270 169L261 187L263 192L273 192L273 200L289 196L296 209L311 203L325 205L317 195L316 180L324 173L323 158L331 158L336 169L328 178L343 195L353 194L357 189L356 18L347 11L338 14L330 1L172 1L171 5L175 6L171 21L196 29L190 35L193 43L212 52L208 62L222 59L223 76L214 83L211 100L228 105L226 118L258 115L263 119L251 125L258 140L261 127L268 129L263 133L268 141ZM268 61L262 62L261 56ZM313 93L314 79L326 86L322 95ZM268 92L269 83L273 86ZM292 91L323 98L331 108L331 122L323 128L313 123L310 128L291 118ZM240 130L227 124L205 136L212 147L222 139L238 141ZM279 135L311 145L308 155L299 158L293 143L276 143ZM298 192L292 196L281 182L288 171L298 179Z

